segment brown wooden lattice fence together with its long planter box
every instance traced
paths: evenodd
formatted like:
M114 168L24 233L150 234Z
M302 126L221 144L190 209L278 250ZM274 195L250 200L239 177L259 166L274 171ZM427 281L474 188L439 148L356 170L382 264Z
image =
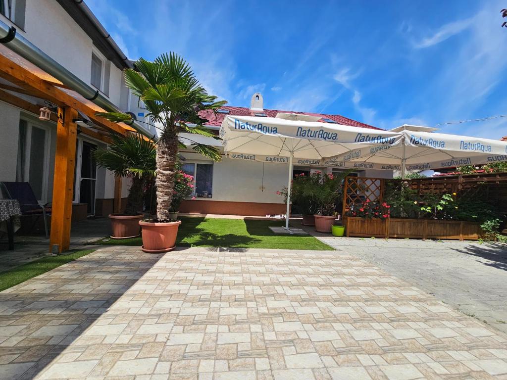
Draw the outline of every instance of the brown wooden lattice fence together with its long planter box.
M410 186L417 195L453 194L456 197L479 195L494 204L498 211L507 213L507 173L452 175L418 179L387 179L346 177L343 189L342 215L347 236L399 237L421 239L477 240L481 230L477 223L453 220L389 218L363 219L347 217L354 205L369 199L382 202L386 186Z

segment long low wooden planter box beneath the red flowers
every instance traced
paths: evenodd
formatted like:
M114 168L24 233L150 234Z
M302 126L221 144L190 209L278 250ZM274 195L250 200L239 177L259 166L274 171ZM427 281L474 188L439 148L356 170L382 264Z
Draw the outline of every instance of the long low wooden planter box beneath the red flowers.
M344 224L347 237L478 240L481 235L479 224L455 220L396 218L382 220L346 216Z

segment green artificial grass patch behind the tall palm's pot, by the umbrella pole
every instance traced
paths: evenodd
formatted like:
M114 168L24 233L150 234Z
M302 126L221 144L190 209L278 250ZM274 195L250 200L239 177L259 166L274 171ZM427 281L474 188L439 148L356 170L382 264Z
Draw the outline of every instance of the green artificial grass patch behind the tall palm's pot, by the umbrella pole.
M180 217L176 245L179 247L234 247L333 250L309 235L279 235L268 227L281 226L282 220L244 220L201 217ZM104 245L141 246L141 238L109 239L96 242Z

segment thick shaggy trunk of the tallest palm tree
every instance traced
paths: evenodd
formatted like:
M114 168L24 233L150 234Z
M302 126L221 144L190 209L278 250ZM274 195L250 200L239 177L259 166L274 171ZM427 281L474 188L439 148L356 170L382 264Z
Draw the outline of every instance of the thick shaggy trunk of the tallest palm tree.
M169 207L174 189L174 169L178 153L178 136L165 131L157 143L157 219L170 221Z

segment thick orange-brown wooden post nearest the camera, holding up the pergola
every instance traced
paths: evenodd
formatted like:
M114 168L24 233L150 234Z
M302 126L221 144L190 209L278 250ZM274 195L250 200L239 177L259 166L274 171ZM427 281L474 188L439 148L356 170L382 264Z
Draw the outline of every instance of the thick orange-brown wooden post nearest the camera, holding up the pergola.
M59 253L68 250L70 246L70 221L72 219L78 127L76 123L73 123L73 119L77 118L78 111L74 108L58 108L51 236L49 239L50 252L53 252L53 245L58 245Z

